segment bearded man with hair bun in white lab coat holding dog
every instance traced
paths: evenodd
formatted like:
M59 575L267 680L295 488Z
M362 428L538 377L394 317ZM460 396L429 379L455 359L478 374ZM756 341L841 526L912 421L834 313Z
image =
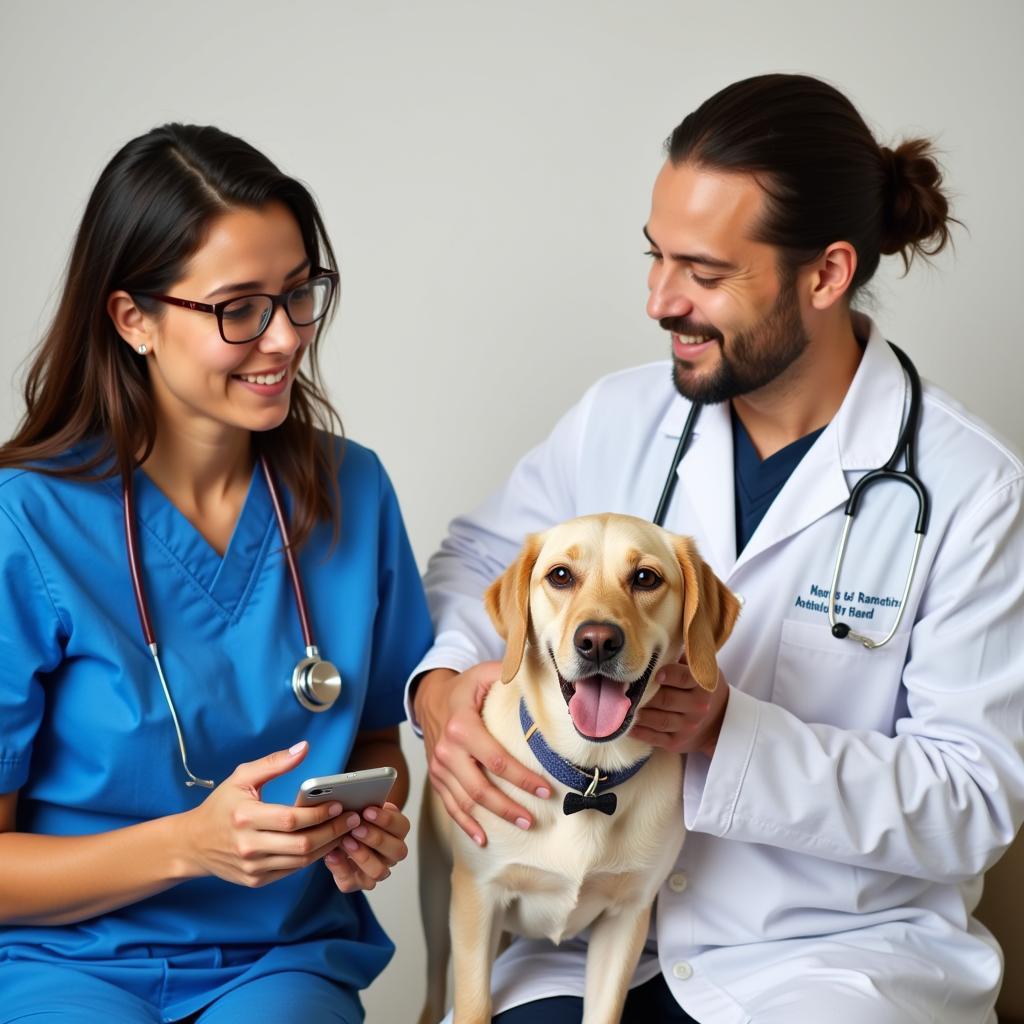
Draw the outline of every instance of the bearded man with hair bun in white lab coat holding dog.
M880 255L941 248L929 145L880 148L849 101L763 76L673 132L645 226L659 362L598 381L431 560L437 641L413 677L430 774L485 842L545 793L479 721L501 654L480 604L524 536L589 512L650 517L694 402L665 525L695 538L742 612L709 697L684 665L636 734L687 755L689 829L624 1021L988 1024L1000 954L971 918L1024 813L1024 466L926 385L916 471L931 500L904 599L916 499L851 487L887 462L908 375L851 311ZM903 460L899 461L900 467ZM481 664L483 663L483 664ZM518 802L481 765L521 787ZM515 942L502 1024L579 1022L583 942Z

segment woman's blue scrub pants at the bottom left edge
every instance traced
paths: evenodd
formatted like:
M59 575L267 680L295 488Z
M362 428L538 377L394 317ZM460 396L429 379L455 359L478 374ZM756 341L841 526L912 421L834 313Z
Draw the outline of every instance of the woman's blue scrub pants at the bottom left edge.
M0 1024L165 1024L145 999L84 971L37 965L4 965ZM45 984L40 984L45 979ZM285 971L239 985L205 1010L185 1018L197 1024L359 1024L358 996L314 974Z

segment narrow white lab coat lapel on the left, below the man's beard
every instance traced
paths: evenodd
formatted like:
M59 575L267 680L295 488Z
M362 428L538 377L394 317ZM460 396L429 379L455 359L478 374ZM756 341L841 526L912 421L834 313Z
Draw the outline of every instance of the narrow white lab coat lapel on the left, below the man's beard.
M679 401L683 406L682 399ZM673 413L676 435L685 418ZM700 547L723 579L736 560L736 512L732 483L732 423L728 402L705 406L690 446L679 464L679 483L700 525Z

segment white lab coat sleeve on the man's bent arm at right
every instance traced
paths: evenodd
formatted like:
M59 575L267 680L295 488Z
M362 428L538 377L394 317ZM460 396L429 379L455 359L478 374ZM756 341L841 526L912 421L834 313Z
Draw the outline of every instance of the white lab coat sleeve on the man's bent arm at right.
M894 736L733 690L714 757L687 761L687 827L938 882L990 866L1024 814L1022 510L1018 478L943 539Z

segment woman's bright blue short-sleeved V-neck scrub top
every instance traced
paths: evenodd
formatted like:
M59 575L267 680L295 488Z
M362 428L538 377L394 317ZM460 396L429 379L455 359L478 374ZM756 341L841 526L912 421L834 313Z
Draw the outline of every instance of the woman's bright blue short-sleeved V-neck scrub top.
M359 730L401 721L406 679L431 645L377 457L346 441L339 486L340 540L331 549L319 524L299 553L315 640L343 681L334 708L312 714L292 694L302 630L258 467L223 558L134 477L144 586L193 770L221 782L309 741L299 768L264 786L268 802L291 804L302 779L344 770ZM18 829L101 833L201 803L139 626L119 478L0 471L0 793L20 791ZM279 971L361 989L392 951L364 896L340 893L316 863L262 889L200 879L75 925L0 925L0 979L5 961L74 966L172 1019Z

